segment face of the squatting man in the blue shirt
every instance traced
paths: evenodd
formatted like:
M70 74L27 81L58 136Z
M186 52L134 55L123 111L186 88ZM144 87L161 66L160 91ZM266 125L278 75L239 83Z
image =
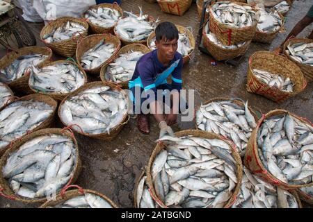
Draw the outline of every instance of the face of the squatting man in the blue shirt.
M168 62L174 58L178 47L177 41L177 39L167 40L165 37L162 37L160 41L155 41L161 58L164 58Z

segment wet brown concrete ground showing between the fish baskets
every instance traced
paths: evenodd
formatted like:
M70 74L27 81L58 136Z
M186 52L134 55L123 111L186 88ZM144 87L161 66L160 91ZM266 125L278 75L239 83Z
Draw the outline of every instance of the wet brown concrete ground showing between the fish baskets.
M275 103L257 94L246 92L246 76L248 70L248 58L255 51L271 51L287 37L294 25L306 14L312 4L311 0L295 1L287 14L285 25L287 32L279 34L272 44L252 43L238 67L230 67L218 62L212 66L211 57L195 49L192 60L184 66L183 80L186 89L195 89L195 105L215 97L240 97L248 100L255 110L266 113L274 109L285 109L300 117L313 121L313 84L307 85L304 92L282 103ZM198 34L199 22L195 3L183 17L168 15L161 12L157 3L146 3L143 0L124 0L123 10L138 11L138 6L143 6L143 12L159 17L161 21L169 21L181 26L191 26L193 34ZM32 24L31 28L39 36L43 24ZM305 37L312 31L311 26L298 35ZM38 41L38 45L42 42ZM198 42L197 42L198 46ZM5 55L6 50L1 50ZM56 57L55 59L58 59ZM93 79L97 80L97 79ZM99 80L99 79L98 79ZM136 178L140 176L142 169L147 165L150 154L155 147L154 140L159 137L159 130L154 119L150 117L151 133L143 135L139 133L136 119L131 119L122 129L117 138L111 142L89 139L77 135L79 142L83 169L76 182L85 189L93 189L105 194L120 207L134 207L134 185ZM63 127L57 123L58 127ZM179 122L173 126L173 130L185 130L194 128L193 122ZM38 204L23 204L0 197L0 207L38 207ZM305 205L307 206L307 205Z

